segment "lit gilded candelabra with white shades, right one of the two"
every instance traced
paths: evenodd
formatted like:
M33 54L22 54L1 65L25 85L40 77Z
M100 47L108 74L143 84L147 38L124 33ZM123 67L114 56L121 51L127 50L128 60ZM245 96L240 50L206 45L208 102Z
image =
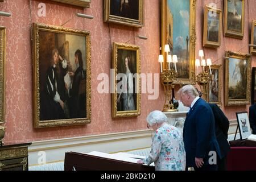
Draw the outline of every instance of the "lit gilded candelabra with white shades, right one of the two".
M195 66L196 66L197 72L199 72L198 67L200 67L200 66L203 67L203 72L198 73L198 75L196 76L196 78L197 78L196 82L197 82L197 84L200 85L201 90L203 90L204 100L208 101L209 97L208 97L208 93L207 93L207 90L208 90L207 85L210 81L210 75L212 75L212 70L210 69L210 66L212 65L212 60L207 59L207 61L205 61L203 50L199 50L199 57L201 57L201 63L200 63L199 59L196 59ZM205 69L206 66L209 67L209 72ZM209 73L210 73L210 75L209 75ZM203 87L203 89L202 89L202 87Z

